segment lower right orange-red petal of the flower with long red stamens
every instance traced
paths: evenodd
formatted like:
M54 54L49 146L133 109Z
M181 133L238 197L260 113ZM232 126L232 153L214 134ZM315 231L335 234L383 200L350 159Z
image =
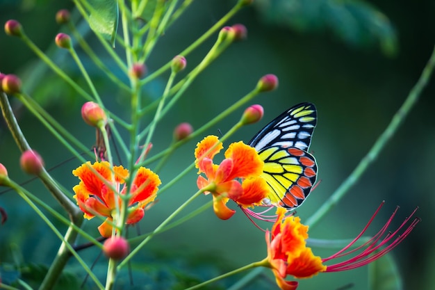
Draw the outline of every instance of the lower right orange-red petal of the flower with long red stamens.
M304 248L299 257L294 259L289 257L287 262L287 274L296 278L313 277L327 270L327 266L322 264L322 258L313 255L311 248Z

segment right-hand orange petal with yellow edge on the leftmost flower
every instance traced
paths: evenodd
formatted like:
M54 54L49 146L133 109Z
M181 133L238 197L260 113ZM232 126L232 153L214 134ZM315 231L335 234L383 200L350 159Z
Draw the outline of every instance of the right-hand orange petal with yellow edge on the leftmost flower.
M145 207L147 203L152 202L156 198L158 186L161 184L161 180L156 173L152 172L148 168L140 167L133 185L136 187L132 193L132 198L129 201L129 205L140 202L142 207Z

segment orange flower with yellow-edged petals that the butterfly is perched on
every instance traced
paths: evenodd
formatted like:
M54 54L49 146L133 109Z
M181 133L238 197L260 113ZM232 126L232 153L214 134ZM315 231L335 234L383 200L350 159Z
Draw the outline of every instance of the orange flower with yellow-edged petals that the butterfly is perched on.
M243 142L232 143L225 152L220 165L213 163L214 156L223 146L216 136L207 136L197 144L195 165L199 175L197 186L204 193L212 193L213 209L222 220L231 218L235 211L227 207L228 200L234 200L242 207L259 204L268 195L268 186L259 177L264 163L254 148ZM243 179L240 182L236 179Z

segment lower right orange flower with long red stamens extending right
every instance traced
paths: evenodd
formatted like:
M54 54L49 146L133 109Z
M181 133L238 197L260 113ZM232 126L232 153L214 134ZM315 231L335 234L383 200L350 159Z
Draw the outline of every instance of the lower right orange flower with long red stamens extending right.
M382 204L381 204L382 206ZM345 271L353 268L358 268L369 264L382 257L387 252L392 250L400 241L402 241L420 221L419 218L414 218L410 225L407 225L413 213L404 220L402 225L395 231L387 231L393 216L397 211L394 211L391 218L388 219L384 227L373 236L370 241L364 243L359 248L349 250L350 247L366 232L366 229L375 218L377 209L363 231L343 250L338 251L331 257L322 259L313 255L311 248L306 247L306 239L308 239L308 226L302 225L299 217L285 217L286 210L284 208L277 209L277 220L275 221L272 232L266 231L266 244L268 245L268 257L264 261L264 266L272 268L272 271L277 280L277 284L284 290L295 290L297 282L285 280L287 275L292 275L295 278L309 278L317 275L320 272L335 272ZM407 227L405 227L407 225ZM399 234L400 230L404 231ZM384 236L385 234L385 236ZM382 238L384 236L384 238ZM350 259L340 261L337 264L325 266L323 263L345 255L354 255Z

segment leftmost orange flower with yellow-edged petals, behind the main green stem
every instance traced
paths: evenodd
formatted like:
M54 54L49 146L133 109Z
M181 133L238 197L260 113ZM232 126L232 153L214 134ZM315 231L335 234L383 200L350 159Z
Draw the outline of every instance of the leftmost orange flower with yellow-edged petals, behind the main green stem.
M113 166L113 172L107 161L95 162L92 165L88 161L72 170L72 174L80 179L80 183L72 188L76 193L74 198L85 218L91 219L96 215L106 216L104 223L98 227L101 236L104 237L112 235L115 209L118 207L117 204L122 202L120 194L126 193L126 188L121 189L120 185L124 184L125 179L129 177L129 170L122 166ZM126 223L138 223L143 218L144 207L154 201L160 184L161 181L154 172L143 167L138 169L129 189L131 198L128 203L129 216L127 216Z

